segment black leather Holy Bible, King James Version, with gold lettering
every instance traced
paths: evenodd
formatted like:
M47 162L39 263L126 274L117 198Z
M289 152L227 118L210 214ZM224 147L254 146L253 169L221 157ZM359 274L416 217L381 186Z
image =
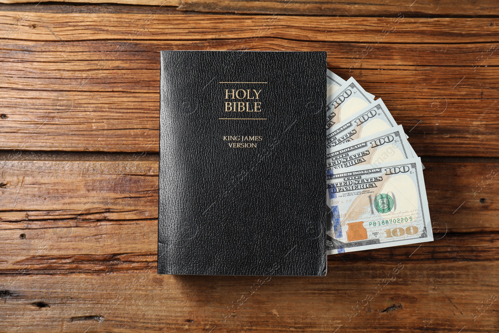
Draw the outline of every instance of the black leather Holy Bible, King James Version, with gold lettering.
M326 52L161 51L158 273L326 274Z

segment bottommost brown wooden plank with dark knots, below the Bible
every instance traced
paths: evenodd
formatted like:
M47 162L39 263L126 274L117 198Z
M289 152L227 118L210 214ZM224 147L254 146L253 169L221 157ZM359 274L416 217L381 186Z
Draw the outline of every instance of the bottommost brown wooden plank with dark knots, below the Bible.
M319 278L20 271L0 277L0 330L499 332L497 301L490 300L499 296L498 270L498 261L405 258L329 262Z

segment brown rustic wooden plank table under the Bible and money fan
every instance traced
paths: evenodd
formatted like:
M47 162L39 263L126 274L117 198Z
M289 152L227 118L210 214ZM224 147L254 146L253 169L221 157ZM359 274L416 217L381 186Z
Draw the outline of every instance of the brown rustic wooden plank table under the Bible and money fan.
M496 1L82 1L0 5L0 332L499 332ZM258 277L157 275L165 49L327 51L423 157L435 241L234 313Z

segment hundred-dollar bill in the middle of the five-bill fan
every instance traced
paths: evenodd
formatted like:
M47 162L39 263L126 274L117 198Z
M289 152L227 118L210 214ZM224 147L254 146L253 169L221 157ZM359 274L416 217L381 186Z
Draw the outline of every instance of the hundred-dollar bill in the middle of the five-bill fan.
M376 132L397 126L390 111L381 98L351 117L329 128L326 133L326 148L353 141Z

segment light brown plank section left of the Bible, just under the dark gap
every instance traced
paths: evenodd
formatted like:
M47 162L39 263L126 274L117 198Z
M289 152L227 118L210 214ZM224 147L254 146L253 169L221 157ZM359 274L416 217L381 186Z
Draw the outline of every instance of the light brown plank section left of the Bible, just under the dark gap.
M0 163L2 222L158 216L158 162Z

